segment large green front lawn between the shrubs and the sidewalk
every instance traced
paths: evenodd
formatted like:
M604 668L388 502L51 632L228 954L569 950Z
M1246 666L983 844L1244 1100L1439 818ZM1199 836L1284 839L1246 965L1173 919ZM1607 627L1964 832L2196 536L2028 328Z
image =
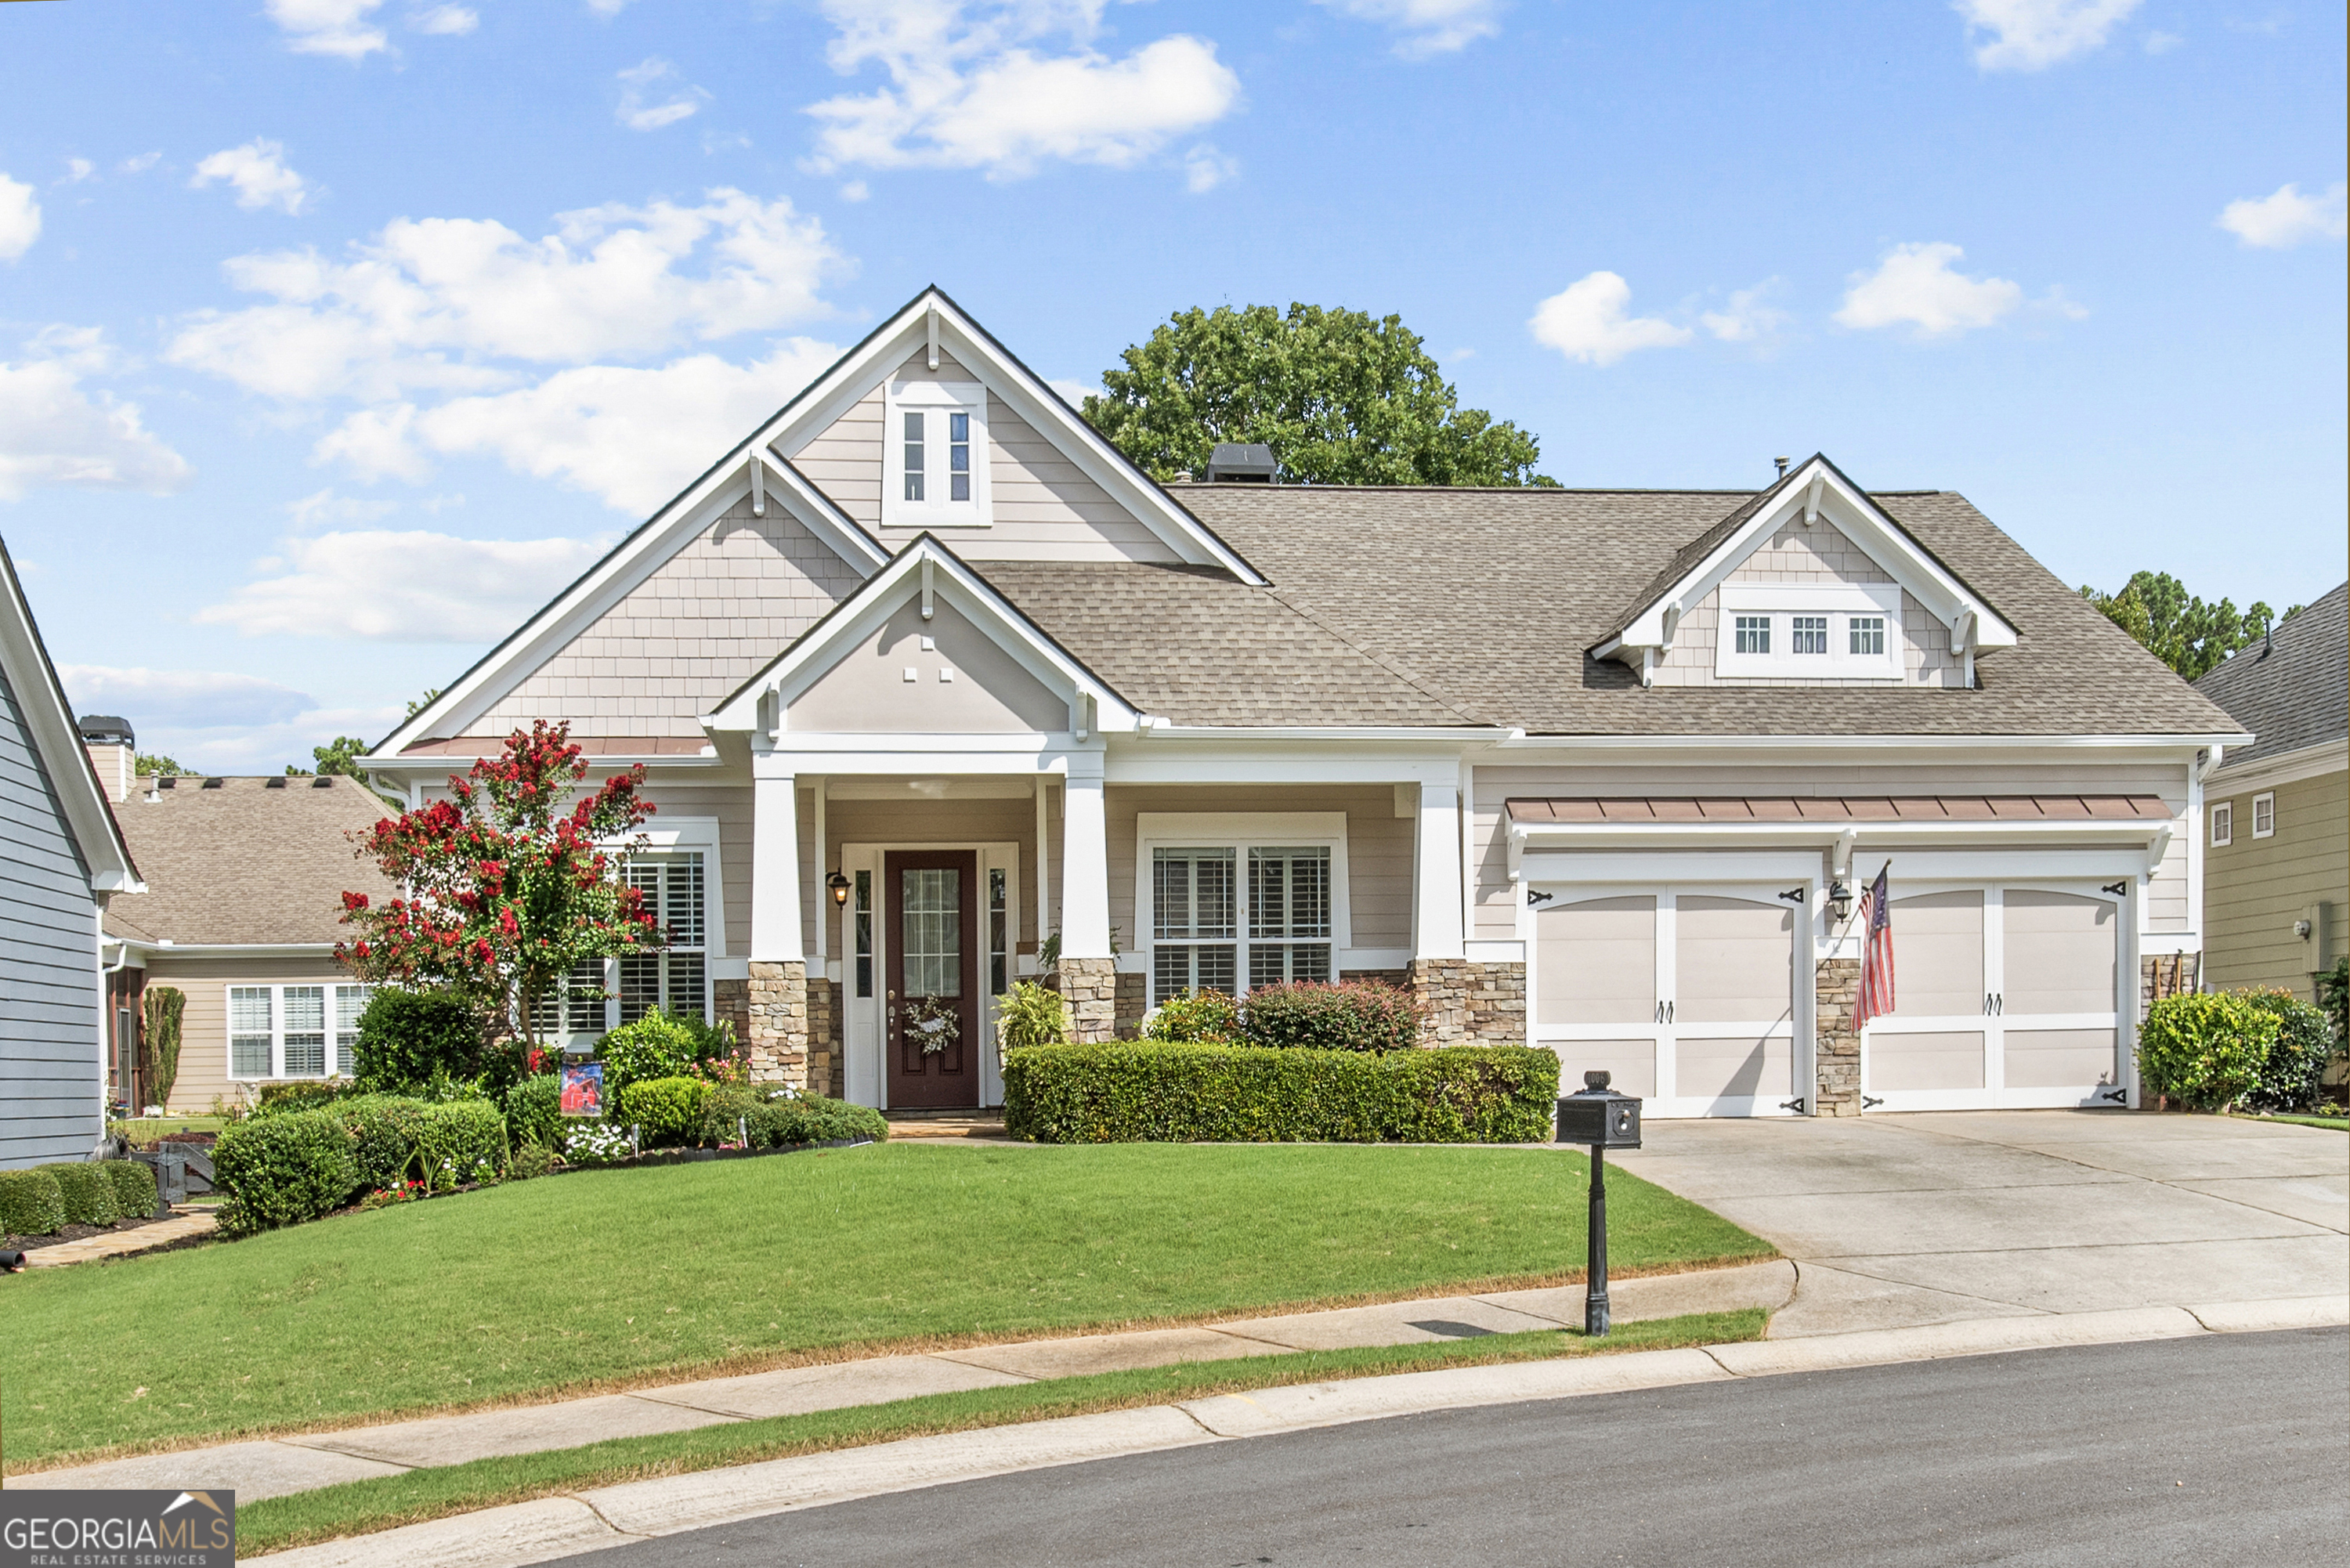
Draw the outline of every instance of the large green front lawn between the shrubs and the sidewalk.
M1579 1276L1565 1150L872 1145L590 1171L0 1279L7 1465ZM1617 1272L1770 1258L1631 1173Z

